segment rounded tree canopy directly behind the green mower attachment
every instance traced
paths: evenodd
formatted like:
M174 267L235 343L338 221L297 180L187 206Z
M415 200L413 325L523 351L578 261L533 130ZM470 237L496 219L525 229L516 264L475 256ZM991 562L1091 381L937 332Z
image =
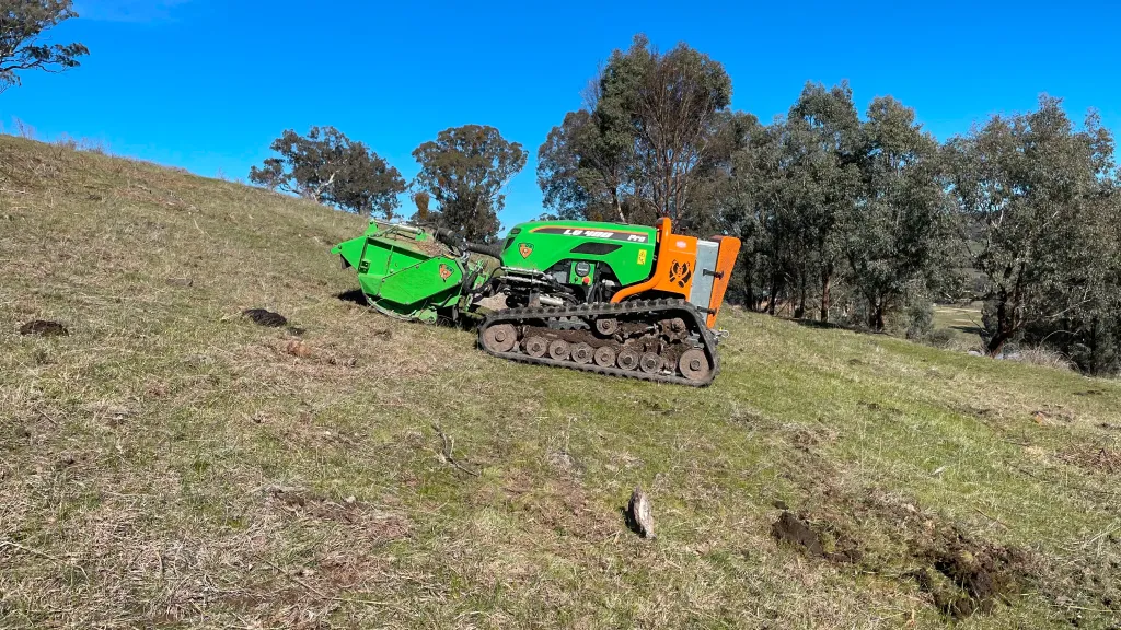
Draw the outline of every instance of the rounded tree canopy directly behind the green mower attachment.
M493 127L465 124L441 131L413 157L420 164L414 184L428 195L417 200L418 213L469 241L498 237L498 214L506 206L502 189L526 166L521 145L506 140ZM429 210L429 200L436 202L435 210Z

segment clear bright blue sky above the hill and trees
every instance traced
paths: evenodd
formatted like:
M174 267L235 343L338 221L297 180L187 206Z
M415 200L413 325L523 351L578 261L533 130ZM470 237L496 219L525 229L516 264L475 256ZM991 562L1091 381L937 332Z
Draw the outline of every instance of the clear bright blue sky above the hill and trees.
M25 75L0 94L0 122L230 178L286 128L337 127L408 178L420 142L491 124L531 156L507 225L540 214L538 146L640 31L722 62L733 108L763 120L806 81L847 78L861 110L891 94L939 139L1029 110L1041 92L1121 131L1118 3L935 4L81 0L82 17L49 35L91 55L66 74Z

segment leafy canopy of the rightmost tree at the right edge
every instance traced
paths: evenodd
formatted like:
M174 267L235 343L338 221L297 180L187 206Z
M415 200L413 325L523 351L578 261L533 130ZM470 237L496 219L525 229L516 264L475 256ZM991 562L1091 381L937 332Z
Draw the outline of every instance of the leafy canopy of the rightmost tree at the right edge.
M958 235L983 275L988 350L1055 322L1101 290L1102 248L1117 224L1113 137L1096 115L1076 130L1062 102L997 115L946 146ZM1108 257L1106 257L1108 259Z

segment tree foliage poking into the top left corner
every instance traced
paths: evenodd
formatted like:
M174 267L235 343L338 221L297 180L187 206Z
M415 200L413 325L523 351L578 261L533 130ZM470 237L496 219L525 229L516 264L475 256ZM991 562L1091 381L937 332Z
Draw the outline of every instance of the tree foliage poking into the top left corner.
M0 0L0 92L20 84L20 73L63 72L90 49L78 43L48 44L43 34L76 18L72 0Z

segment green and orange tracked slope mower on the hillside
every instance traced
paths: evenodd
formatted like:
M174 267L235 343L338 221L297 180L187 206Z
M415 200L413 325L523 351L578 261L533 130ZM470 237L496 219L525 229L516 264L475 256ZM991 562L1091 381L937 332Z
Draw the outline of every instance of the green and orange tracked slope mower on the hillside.
M332 252L358 270L379 312L469 323L494 356L706 386L739 250L739 239L675 234L660 219L654 228L535 221L494 244L374 221Z

